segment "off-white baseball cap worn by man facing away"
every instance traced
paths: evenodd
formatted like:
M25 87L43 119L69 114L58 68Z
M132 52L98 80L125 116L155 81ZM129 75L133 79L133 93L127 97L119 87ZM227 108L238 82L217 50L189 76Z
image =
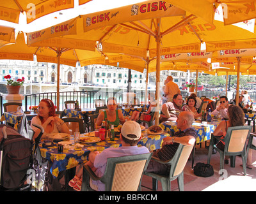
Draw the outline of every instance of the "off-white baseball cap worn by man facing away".
M138 140L141 136L140 124L133 120L127 120L121 128L121 134L128 140ZM127 136L129 134L136 135L136 138L130 138Z

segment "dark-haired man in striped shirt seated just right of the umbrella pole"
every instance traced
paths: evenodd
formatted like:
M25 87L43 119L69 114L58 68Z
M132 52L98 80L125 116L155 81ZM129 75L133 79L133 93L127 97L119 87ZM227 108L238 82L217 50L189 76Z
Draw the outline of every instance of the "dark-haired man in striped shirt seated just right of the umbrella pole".
M164 121L176 121L180 112L182 112L182 96L175 94L173 96L173 102L164 103L159 117L159 123Z

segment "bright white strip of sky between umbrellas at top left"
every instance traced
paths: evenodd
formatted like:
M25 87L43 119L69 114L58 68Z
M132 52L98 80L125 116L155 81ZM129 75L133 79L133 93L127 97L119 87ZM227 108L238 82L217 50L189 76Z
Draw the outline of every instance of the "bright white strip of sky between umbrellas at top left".
M60 24L61 22L64 22L70 18L75 18L86 13L94 13L97 11L108 10L111 8L140 3L143 1L146 0L92 0L86 4L78 6L78 0L76 0L74 8L51 13L34 20L30 24L26 24L26 15L21 13L19 24L13 24L11 22L0 20L0 25L14 27L16 31L24 31L29 33L50 27L52 25ZM62 15L60 15L60 13L62 13Z

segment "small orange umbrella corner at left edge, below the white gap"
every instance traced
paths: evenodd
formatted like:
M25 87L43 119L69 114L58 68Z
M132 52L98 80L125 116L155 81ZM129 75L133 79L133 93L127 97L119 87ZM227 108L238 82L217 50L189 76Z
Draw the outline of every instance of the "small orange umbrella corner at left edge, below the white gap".
M8 43L15 43L15 29L0 25L0 47Z

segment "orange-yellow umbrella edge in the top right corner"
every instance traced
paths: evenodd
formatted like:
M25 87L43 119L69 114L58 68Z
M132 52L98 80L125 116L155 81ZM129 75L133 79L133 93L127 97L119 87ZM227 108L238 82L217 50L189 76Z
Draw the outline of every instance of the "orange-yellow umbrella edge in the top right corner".
M235 24L256 18L256 1L246 0L166 0L183 10L193 13L197 17L201 17L211 23L214 19L214 13L218 5L223 8L223 20L225 25ZM220 3L218 3L220 2Z

